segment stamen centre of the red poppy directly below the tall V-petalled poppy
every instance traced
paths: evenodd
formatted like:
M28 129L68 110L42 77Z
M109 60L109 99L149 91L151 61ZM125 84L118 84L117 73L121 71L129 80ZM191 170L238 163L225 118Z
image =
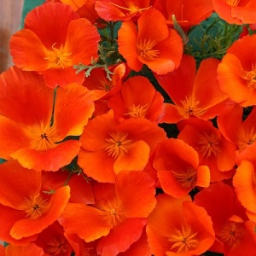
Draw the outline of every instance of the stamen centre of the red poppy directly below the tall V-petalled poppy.
M212 154L217 156L219 151L219 138L214 132L211 134L207 134L206 132L201 134L198 140L198 144L201 147L200 151L204 157L208 158Z

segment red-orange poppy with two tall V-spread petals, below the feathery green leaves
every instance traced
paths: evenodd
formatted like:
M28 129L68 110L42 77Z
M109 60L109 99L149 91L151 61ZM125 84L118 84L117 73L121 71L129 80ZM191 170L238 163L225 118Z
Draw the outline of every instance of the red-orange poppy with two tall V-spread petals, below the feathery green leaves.
M164 76L155 75L174 103L166 103L163 122L177 123L193 116L213 119L224 111L228 96L218 86L218 63L213 58L201 61L196 73L194 57L183 55L175 71Z

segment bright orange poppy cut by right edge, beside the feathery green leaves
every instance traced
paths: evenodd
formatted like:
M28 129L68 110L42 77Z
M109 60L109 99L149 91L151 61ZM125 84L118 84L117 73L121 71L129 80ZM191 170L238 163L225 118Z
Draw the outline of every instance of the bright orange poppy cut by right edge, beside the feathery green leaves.
M218 66L220 89L242 107L256 104L255 44L256 35L236 40Z

